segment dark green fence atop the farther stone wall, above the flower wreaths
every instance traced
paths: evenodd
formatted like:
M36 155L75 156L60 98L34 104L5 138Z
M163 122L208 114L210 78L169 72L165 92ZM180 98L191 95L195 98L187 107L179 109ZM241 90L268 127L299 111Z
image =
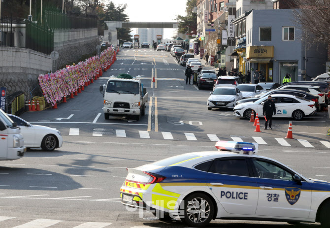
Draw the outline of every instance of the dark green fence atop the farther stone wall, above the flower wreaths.
M86 16L83 13L55 11L45 11L47 26L51 29L90 29L98 27L98 17L94 15Z

